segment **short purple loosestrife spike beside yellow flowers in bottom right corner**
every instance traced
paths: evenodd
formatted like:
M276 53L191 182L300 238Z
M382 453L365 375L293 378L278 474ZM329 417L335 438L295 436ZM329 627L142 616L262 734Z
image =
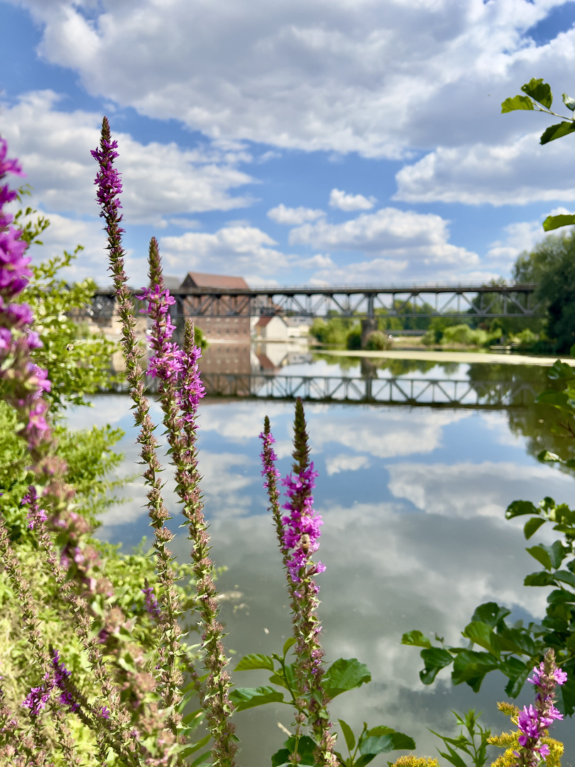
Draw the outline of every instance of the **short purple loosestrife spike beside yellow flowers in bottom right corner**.
M547 650L544 660L534 667L535 705L524 706L517 717L520 735L519 750L514 752L514 767L537 767L549 755L549 746L542 742L547 730L563 714L555 708L555 688L567 681L567 674L557 668L554 650Z

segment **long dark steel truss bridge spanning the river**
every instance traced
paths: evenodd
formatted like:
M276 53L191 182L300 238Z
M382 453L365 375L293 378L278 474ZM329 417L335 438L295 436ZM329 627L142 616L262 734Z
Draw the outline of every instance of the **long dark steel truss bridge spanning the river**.
M176 288L176 316L261 317L281 314L291 317L424 318L449 314L452 317L538 317L544 314L534 298L537 285L411 285L392 287L293 288ZM133 294L140 288L133 289ZM88 314L111 318L113 288L100 288Z

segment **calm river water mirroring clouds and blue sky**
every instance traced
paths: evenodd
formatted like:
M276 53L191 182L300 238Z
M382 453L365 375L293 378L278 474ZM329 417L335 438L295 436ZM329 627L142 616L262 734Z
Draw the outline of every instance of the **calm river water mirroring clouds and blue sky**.
M330 361L295 359L281 375L361 377L357 361ZM545 382L541 369L478 364L396 364L370 375L475 380L484 382L484 394L485 381L511 387L519 377L538 390ZM101 396L94 404L92 410L74 411L71 426L120 426L126 431L120 473L132 474L139 467L129 398ZM465 685L453 687L445 672L426 687L419 680L418 650L399 642L403 632L418 628L460 644L459 632L485 601L511 607L516 619L542 617L547 589L523 586L537 563L524 551L521 520L505 521L504 509L514 499L537 502L544 495L572 503L573 478L534 457L543 446L571 447L564 440L559 448L554 445L546 436L548 413L534 406L474 410L316 402L306 404L306 413L320 472L315 505L324 518L320 556L327 571L320 575L320 617L326 657L328 662L357 657L373 676L370 685L334 700L334 721L346 719L359 729L363 721L393 726L416 739L419 755L436 755L438 742L426 727L454 732L450 709L473 707L494 731L506 729L508 719L495 707L495 701L505 700L502 676L488 676L478 694ZM158 423L156 404L152 414ZM285 474L293 403L212 398L202 404L199 420L205 514L215 563L228 568L218 585L230 597L222 617L235 658L280 652L291 629L261 487L258 434L266 414L278 440L278 468ZM123 495L126 502L101 518L98 535L122 542L126 551L149 531L142 482L130 482ZM166 502L176 514L173 495ZM176 531L179 520L171 524ZM537 535L543 542L552 539L546 532ZM176 538L172 548L187 560L185 538ZM263 671L235 677L240 686L267 681ZM529 693L525 690L519 705L531 701ZM241 767L268 767L285 738L277 724L290 724L291 709L265 706L238 714L236 721ZM559 724L556 736L565 743L563 765L568 767L575 753L573 723ZM392 758L393 753L383 755L373 763L384 765Z

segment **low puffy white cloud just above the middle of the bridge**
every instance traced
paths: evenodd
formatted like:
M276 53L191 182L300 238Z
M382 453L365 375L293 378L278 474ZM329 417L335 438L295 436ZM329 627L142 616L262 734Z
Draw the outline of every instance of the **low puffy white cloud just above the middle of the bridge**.
M363 252L367 261L314 275L318 280L343 282L393 278L435 279L460 276L478 265L478 255L451 245L448 222L431 213L383 208L356 219L330 224L320 219L290 232L292 245L311 245L325 251Z

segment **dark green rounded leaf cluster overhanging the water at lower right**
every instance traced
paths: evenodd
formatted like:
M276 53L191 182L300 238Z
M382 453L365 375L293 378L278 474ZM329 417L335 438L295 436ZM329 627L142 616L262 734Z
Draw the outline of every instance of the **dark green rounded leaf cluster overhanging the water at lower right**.
M507 676L505 691L512 698L521 692L545 651L553 647L557 663L569 675L567 683L557 690L557 705L571 716L575 712L575 511L545 498L537 506L531 501L514 501L505 512L508 519L522 515L529 516L524 525L527 539L546 523L562 534L562 539L553 545L540 543L527 548L543 569L527 575L524 585L553 588L547 596L547 610L541 623L508 624L505 619L511 611L487 602L477 607L462 631L468 647L445 647L443 643L434 646L418 630L403 634L402 644L423 648L420 655L424 668L419 677L424 684L431 684L440 670L452 666L452 683L466 683L478 692L485 676L498 670Z

